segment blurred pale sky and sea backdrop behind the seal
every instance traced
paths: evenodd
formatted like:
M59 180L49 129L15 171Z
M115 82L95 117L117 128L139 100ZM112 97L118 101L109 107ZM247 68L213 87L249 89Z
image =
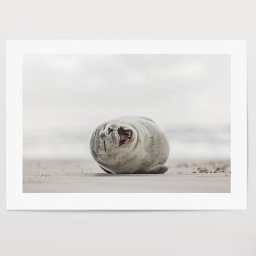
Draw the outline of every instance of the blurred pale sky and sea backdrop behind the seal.
M230 159L230 55L23 56L23 158L91 158L124 115L154 119L170 158Z

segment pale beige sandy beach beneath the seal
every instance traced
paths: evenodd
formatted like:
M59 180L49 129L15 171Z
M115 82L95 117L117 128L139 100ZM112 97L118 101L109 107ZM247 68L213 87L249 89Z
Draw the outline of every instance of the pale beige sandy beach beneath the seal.
M114 175L92 159L24 159L23 193L230 193L230 161L167 162L159 175Z

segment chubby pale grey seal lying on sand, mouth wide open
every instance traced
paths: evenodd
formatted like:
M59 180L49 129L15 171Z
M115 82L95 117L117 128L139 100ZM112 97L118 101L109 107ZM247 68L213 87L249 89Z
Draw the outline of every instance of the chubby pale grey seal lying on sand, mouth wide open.
M103 122L90 137L92 157L110 174L164 174L169 151L165 132L144 116Z

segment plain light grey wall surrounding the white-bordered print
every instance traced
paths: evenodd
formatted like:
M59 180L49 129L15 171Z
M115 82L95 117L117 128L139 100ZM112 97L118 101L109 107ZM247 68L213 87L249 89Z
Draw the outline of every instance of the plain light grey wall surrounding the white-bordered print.
M0 9L2 255L255 255L254 1L4 1ZM248 210L6 211L5 39L247 39ZM238 100L239 102L239 100ZM112 253L110 254L110 251Z

